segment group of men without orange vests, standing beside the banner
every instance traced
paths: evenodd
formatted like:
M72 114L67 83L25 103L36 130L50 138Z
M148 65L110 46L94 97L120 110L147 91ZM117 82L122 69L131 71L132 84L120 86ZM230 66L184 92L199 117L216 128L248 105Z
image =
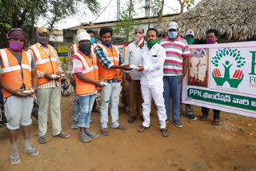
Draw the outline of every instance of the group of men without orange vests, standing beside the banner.
M133 123L137 117L140 117L143 122L138 132L148 129L150 127L151 97L153 97L158 108L160 131L164 137L168 136L168 131L165 128L166 123L170 122L170 97L172 98L172 121L177 127L182 127L182 123L179 121L180 113L182 113L181 86L182 79L190 65L188 45L194 43L194 31L187 30L185 39L180 38L176 22L170 22L167 31L168 36L160 41L159 46L156 39L157 30L149 29L145 42L144 30L141 27L136 28L134 42L130 43L126 52L126 64L144 66L139 66L138 70L126 72L130 95L128 122ZM218 36L218 30L208 30L206 43L217 43ZM138 71L142 71L142 74ZM142 94L143 103L140 94ZM219 110L214 109L213 125L219 124L219 113ZM202 117L199 120L206 121L208 115L209 109L202 107ZM197 119L193 114L193 105L186 104L186 116L191 120Z

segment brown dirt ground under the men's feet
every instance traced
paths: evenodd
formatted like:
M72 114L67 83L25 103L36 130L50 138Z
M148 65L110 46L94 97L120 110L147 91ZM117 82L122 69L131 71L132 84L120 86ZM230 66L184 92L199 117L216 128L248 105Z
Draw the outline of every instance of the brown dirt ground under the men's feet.
M70 129L72 99L73 95L62 97L62 129L71 137L66 140L52 137L50 121L46 135L48 143L40 145L38 121L33 118L31 142L40 153L37 157L25 154L20 133L18 149L22 162L19 165L10 165L6 128L0 128L0 170L230 171L236 165L256 166L256 130L250 135L256 129L256 118L222 112L222 125L213 126L210 110L208 121L205 122L190 121L182 116L183 128L168 123L170 137L162 137L155 110L152 112L150 129L138 133L141 121L128 124L129 115L120 109L119 122L129 129L110 129L110 135L105 137L100 134L99 113L92 113L94 122L90 129L99 133L100 137L82 143L78 140L78 129ZM201 108L194 106L194 114L199 117Z

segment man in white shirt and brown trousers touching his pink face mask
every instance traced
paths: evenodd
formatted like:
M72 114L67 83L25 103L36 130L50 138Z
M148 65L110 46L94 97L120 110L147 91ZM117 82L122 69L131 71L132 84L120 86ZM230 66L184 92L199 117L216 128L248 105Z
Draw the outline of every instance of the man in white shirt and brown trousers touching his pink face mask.
M139 65L141 62L142 48L146 46L144 41L144 30L142 27L137 27L134 30L134 42L130 43L126 50L125 64ZM129 97L130 97L130 118L129 123L134 123L136 117L142 117L142 90L140 81L142 72L137 70L126 71L126 80L129 82Z

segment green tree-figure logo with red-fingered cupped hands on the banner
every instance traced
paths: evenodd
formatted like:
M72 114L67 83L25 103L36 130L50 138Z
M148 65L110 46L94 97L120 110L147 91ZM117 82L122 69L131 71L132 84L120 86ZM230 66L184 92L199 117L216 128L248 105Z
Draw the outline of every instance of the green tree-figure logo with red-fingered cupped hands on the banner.
M222 64L225 71L224 77L222 77L220 70L218 70L218 68L214 69L212 75L216 84L222 86L225 82L228 82L230 87L238 88L238 85L242 82L244 74L242 74L242 70L235 70L233 77L230 78L230 67L233 66L233 64L230 64L230 61L234 61L236 66L241 68L246 64L245 59L246 58L243 58L240 51L237 49L231 50L230 48L225 48L223 50L218 50L211 62L216 67Z

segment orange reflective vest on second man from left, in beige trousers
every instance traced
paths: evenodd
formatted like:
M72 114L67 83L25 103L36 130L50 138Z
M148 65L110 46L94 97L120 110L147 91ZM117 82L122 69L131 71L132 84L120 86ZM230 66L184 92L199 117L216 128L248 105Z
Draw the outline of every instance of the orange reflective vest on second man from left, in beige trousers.
M33 50L34 53L34 61L37 65L37 70L42 73L52 73L56 74L58 72L58 56L53 46L47 44L47 47L50 52L50 56L46 53L42 47L38 47L38 44L34 44L34 46L30 46L29 49ZM61 81L62 78L59 78L58 81ZM45 84L46 82L50 82L46 78L38 78L38 85Z

